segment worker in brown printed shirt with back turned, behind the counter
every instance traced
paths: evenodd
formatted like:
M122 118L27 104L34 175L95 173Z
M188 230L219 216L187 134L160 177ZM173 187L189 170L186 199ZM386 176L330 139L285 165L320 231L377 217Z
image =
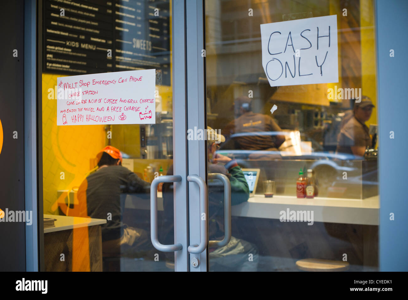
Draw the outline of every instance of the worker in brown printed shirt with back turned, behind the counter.
M262 135L261 132L280 132L282 129L271 116L252 111L251 98L241 96L234 101L235 120L229 122L222 130L227 138L235 133L233 139L236 147L245 150L274 150L285 141L285 136Z

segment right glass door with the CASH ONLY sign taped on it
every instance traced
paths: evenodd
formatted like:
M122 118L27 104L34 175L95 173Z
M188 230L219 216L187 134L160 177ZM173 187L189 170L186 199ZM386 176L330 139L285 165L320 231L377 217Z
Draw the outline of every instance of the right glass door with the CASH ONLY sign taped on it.
M378 271L374 2L197 3L189 169L207 176L208 214L190 190L190 239L201 213L212 242L191 260L208 271Z

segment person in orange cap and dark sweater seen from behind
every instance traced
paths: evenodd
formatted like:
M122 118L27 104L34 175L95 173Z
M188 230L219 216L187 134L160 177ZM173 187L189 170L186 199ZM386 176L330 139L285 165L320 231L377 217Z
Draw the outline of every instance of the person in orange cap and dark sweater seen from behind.
M78 189L78 200L86 211L81 216L106 219L102 224L102 252L120 255L146 248L148 236L143 229L122 222L121 193L150 193L150 184L122 167L122 153L106 146L97 154L97 170L86 177Z

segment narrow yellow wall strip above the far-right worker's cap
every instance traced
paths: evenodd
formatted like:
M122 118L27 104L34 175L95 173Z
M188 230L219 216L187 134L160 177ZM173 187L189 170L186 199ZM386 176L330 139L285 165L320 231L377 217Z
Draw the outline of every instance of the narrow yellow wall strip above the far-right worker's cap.
M377 108L376 48L373 0L360 0L361 26L361 92L371 98ZM371 118L366 122L377 124L377 111L373 109Z

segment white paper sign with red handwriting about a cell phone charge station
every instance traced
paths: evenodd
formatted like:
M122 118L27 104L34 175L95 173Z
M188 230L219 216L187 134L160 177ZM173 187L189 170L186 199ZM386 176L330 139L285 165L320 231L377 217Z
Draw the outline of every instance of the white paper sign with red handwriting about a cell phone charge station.
M155 124L156 70L57 78L57 125Z

